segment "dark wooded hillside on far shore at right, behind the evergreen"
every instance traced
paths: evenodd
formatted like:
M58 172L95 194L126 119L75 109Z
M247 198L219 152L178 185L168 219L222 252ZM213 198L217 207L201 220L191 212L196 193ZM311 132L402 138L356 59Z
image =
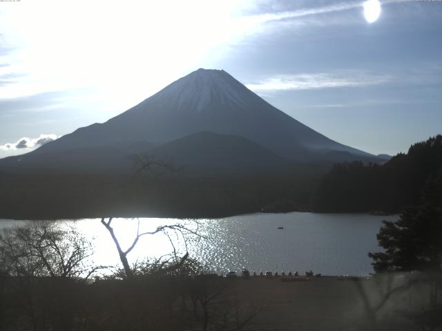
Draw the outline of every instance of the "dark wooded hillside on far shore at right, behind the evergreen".
M383 165L338 163L318 185L318 212L399 212L419 203L427 179L442 168L442 135L415 143Z

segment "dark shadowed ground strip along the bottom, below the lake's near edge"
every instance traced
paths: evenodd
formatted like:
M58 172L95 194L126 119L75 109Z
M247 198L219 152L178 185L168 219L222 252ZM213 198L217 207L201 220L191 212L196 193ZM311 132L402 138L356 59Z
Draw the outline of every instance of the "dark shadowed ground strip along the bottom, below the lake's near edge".
M424 281L2 280L1 330L440 330ZM32 284L32 285L31 285Z

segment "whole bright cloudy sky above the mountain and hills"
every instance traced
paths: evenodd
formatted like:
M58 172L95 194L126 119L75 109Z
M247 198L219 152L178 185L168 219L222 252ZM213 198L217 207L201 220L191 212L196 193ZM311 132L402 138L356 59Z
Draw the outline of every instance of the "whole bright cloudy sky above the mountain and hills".
M371 0L373 1L373 0ZM442 1L0 1L0 157L224 69L373 154L442 133Z

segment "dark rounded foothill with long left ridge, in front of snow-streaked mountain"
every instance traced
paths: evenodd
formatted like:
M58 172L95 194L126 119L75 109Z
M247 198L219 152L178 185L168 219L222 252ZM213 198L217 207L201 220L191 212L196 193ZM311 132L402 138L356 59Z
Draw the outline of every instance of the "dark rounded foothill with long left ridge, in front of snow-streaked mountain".
M163 161L182 176L288 174L298 165L240 136L198 132L164 144L131 143L28 153L0 161L10 172L94 172L133 174L137 155ZM173 172L168 174L174 175Z

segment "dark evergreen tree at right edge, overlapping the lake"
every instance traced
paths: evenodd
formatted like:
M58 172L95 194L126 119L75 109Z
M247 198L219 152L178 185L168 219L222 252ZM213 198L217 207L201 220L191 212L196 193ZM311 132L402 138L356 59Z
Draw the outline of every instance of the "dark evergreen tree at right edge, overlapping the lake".
M396 222L383 221L377 238L385 252L369 253L376 272L441 270L442 167L427 179L419 205Z

